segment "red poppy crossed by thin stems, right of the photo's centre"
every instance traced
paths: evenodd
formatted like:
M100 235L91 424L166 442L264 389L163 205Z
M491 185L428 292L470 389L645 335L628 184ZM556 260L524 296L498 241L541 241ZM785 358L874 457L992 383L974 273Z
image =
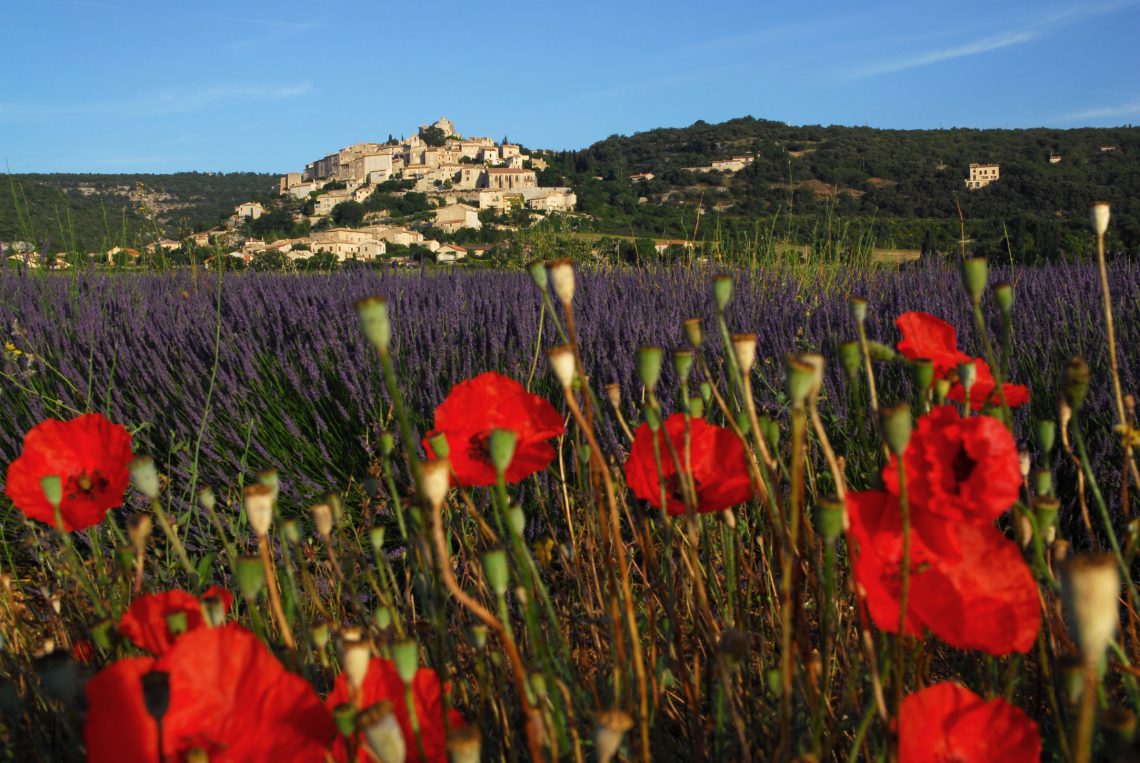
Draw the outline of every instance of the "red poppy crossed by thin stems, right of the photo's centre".
M697 511L720 511L744 503L752 497L752 482L748 473L748 461L740 438L723 427L716 427L703 419L689 420L689 454L693 482L697 487ZM669 445L665 440L668 433ZM685 511L681 492L677 463L673 454L684 462L685 415L675 413L665 421L663 431L658 430L657 441L661 455L661 472L658 474L653 456L653 432L649 424L642 424L634 432L634 444L626 458L626 484L638 498L661 508L661 480L665 480L666 506L670 514Z

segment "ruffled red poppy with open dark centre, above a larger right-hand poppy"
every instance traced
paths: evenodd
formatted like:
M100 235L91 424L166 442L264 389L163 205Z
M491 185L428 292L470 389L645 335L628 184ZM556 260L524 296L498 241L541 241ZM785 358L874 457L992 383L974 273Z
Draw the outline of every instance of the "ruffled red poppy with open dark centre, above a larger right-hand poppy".
M952 405L919 419L903 463L911 526L944 554L956 553L947 521L991 522L1013 505L1021 489L1009 430L990 416L962 419ZM897 456L883 466L882 481L898 495Z

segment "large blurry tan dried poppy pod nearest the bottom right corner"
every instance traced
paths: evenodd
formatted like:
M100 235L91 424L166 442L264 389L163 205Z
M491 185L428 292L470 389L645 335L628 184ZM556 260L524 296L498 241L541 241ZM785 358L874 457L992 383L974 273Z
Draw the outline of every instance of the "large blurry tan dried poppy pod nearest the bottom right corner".
M1061 569L1061 603L1086 665L1098 665L1119 620L1121 573L1109 554L1081 554Z

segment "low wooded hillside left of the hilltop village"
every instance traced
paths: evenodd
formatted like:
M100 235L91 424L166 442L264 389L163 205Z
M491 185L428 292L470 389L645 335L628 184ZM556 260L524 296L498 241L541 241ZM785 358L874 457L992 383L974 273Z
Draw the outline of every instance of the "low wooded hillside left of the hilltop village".
M0 241L79 251L135 246L204 230L234 206L276 193L254 172L9 174L0 181Z

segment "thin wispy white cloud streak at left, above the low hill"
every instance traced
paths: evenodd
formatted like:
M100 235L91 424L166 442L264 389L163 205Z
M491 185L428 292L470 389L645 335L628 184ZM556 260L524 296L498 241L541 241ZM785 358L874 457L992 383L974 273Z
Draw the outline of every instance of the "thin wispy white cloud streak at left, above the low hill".
M205 87L197 90L155 92L124 100L95 100L67 105L0 103L0 121L188 114L235 100L280 100L311 91L312 86L309 82L299 82L284 86Z

